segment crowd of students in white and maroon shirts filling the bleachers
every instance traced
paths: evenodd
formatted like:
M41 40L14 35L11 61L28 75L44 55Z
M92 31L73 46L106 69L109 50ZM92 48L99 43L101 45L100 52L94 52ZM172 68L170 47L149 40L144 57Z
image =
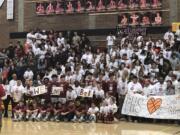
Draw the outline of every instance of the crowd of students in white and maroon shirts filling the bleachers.
M162 39L139 35L133 40L110 34L102 50L92 47L85 34L30 31L25 45L10 43L2 50L8 56L1 64L4 117L11 102L14 121L111 123L115 116L124 118L128 93L180 94L179 33L169 30ZM40 85L47 93L33 96L32 88ZM52 87L63 91L54 97ZM82 89L93 96L81 96Z

